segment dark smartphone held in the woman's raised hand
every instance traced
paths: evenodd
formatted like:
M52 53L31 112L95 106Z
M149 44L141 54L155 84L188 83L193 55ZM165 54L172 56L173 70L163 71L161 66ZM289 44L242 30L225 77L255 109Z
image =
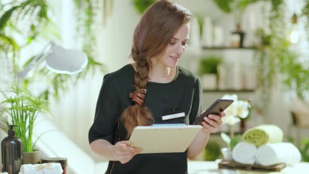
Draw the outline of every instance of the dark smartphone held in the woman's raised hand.
M193 123L193 125L202 125L204 117L207 117L209 114L219 115L221 111L224 111L234 100L229 99L218 99L203 113L199 118ZM202 125L203 126L203 125Z

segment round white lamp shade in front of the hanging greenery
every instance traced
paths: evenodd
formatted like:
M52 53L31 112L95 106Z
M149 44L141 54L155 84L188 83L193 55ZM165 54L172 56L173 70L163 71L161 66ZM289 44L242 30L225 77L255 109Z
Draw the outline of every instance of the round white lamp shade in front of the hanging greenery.
M87 55L82 51L64 49L57 45L51 46L51 52L46 57L47 68L56 73L76 74L87 64Z

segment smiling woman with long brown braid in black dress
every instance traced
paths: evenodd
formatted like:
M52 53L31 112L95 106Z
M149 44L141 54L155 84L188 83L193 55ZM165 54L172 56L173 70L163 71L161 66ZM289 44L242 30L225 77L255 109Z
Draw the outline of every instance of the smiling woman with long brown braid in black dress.
M187 48L190 18L190 12L175 3L152 5L134 33L134 63L104 76L89 143L110 161L106 173L187 173L187 158L202 152L209 134L220 129L224 112L205 117L186 152L139 154L141 149L127 146L136 126L189 125L201 113L199 77L177 66ZM163 115L179 112L186 116L162 121Z

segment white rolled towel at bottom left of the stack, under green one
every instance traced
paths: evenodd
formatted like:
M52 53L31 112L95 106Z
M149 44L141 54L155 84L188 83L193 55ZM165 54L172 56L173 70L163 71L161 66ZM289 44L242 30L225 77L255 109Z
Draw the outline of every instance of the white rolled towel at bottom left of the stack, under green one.
M248 142L238 142L233 149L233 160L241 164L254 164L257 147Z

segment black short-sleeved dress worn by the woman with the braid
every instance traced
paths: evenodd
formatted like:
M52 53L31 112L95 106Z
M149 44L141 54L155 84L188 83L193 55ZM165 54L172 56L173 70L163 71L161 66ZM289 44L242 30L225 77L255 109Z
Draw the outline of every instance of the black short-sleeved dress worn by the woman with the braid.
M89 143L105 139L111 144L127 140L126 130L117 123L120 114L133 105L129 97L134 89L135 70L131 64L106 74L100 90L94 124L88 134ZM148 82L143 106L154 117L154 124L192 124L201 112L201 81L197 75L177 66L177 74L169 83ZM186 117L162 121L163 115L184 112ZM109 161L106 173L188 173L187 151L183 153L138 154L128 163Z

